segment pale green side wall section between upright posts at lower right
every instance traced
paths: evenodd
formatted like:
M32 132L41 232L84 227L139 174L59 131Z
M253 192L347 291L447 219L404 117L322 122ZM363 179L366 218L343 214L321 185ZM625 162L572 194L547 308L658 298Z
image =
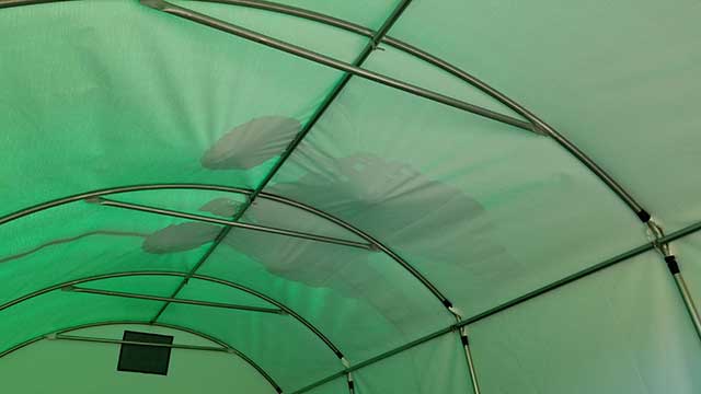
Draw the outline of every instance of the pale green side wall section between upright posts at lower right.
M655 252L470 326L485 393L698 393L701 344Z

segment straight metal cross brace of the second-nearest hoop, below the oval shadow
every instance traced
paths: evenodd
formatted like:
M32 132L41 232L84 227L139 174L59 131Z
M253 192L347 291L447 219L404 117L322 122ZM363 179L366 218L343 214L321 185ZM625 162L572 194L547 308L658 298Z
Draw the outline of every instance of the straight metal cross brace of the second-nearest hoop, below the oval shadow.
M300 231L277 229L277 228L272 228L272 227L266 227L266 225L241 223L241 222L237 222L237 221L210 218L210 217L200 216L200 215L185 213L185 212L174 211L174 210L170 210L170 209L162 209L162 208L148 207L148 206L138 205L138 204L115 201L115 200L111 200L111 199L106 199L106 198L102 198L102 197L90 198L90 199L87 199L85 201L87 202L91 202L91 204L99 204L99 205L107 206L107 207L124 208L124 209L141 211L141 212L156 213L156 215L169 216L169 217L181 218L181 219L189 219L189 220L195 220L195 221L200 221L200 222L208 222L208 223L220 224L220 225L226 225L226 227L232 227L232 228L240 228L240 229L245 229L245 230L251 230L251 231L264 232L264 233L268 233L268 234L286 235L286 236L298 237L298 239L302 239L302 240L309 240L309 241L317 241L317 242L323 242L323 243L330 243L330 244L336 244L336 245L343 245L343 246L352 246L352 247L357 247L357 248L364 248L364 250L368 250L368 251L374 251L375 250L374 245L367 244L367 243L363 243L363 242L341 240L341 239L336 239L336 237L332 237L332 236L317 235L317 234L310 234L310 233L300 232Z

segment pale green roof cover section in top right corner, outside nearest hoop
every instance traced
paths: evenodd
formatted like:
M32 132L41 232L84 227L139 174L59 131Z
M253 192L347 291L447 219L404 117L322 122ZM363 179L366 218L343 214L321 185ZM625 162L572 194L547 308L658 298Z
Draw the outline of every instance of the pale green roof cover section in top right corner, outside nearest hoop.
M520 101L677 228L701 217L682 181L701 153L699 20L696 0L417 0L391 34Z

